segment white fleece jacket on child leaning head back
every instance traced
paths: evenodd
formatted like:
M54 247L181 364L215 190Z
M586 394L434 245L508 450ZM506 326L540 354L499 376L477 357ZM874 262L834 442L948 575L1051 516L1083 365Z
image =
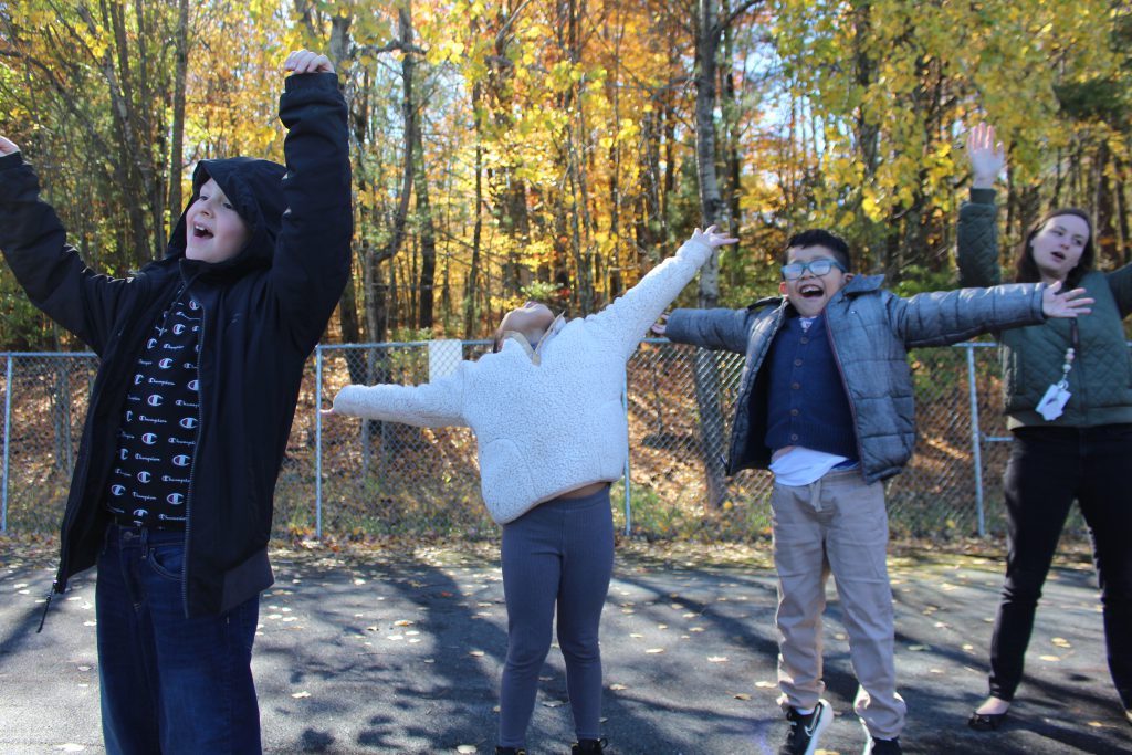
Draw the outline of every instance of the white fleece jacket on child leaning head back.
M419 386L346 386L334 411L419 427L468 426L479 444L483 500L505 524L593 482L620 479L628 454L625 364L711 256L687 241L602 311L557 323L534 355L508 338Z

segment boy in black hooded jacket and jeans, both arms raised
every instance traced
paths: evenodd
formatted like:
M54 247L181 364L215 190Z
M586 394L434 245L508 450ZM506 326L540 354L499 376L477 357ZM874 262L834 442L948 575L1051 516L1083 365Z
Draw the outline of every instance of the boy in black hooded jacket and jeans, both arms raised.
M55 592L95 563L110 753L258 753L251 645L273 491L303 364L350 274L346 111L291 53L286 166L203 161L165 257L87 268L0 137L0 249L31 300L101 358Z

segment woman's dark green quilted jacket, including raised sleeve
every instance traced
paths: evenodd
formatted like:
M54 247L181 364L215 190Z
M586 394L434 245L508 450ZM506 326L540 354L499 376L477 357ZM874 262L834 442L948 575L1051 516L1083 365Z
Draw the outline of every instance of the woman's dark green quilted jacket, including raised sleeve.
M997 285L998 226L993 189L972 189L959 211L959 277L963 286ZM1002 349L1003 393L1009 427L1092 427L1132 422L1132 357L1122 320L1132 311L1132 265L1087 273L1080 283L1097 300L1078 318L1080 348L1069 374L1072 396L1064 413L1046 421L1034 411L1062 376L1070 346L1070 320L1047 320L996 334Z

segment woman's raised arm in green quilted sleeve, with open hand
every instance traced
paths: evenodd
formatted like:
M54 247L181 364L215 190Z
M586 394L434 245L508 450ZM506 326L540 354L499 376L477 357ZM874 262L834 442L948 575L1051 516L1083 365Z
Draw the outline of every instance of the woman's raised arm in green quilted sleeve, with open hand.
M998 224L995 222L995 178L1006 164L994 127L978 123L967 136L967 156L971 163L971 196L959 208L959 283L962 286L997 285L1002 282L998 265Z

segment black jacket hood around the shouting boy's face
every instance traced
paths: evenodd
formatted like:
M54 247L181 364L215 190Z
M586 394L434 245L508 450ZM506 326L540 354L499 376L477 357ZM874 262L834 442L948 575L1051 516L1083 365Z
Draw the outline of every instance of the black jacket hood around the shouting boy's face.
M203 160L197 163L192 172L192 197L173 226L165 257L183 259L186 215L200 194L200 187L211 178L235 206L240 217L248 224L251 235L243 249L230 259L222 263L190 260L190 264L199 267L201 272L271 267L275 239L278 237L283 213L286 209L286 198L283 195L285 174L286 168L283 165L256 157Z

